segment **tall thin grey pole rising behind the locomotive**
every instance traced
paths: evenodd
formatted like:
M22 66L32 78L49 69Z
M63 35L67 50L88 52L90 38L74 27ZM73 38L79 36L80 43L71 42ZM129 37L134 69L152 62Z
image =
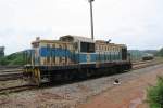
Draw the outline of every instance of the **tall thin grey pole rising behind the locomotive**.
M91 39L93 40L93 16L92 16L92 1L95 0L88 0L90 3L90 27L91 27Z

